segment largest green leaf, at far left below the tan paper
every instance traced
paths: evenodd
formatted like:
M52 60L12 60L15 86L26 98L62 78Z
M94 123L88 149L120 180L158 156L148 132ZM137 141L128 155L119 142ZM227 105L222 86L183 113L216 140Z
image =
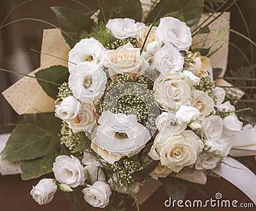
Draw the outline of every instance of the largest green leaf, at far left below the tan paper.
M56 149L61 120L53 113L27 114L12 131L2 160L20 161L42 157Z

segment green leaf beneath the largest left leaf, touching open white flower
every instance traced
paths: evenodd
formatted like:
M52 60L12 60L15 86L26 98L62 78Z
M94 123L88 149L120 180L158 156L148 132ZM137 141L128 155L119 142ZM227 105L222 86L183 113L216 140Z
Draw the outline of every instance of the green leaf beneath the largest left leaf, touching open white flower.
M43 157L33 160L23 160L20 162L22 180L31 180L52 172L52 164L54 163L58 153L51 152Z

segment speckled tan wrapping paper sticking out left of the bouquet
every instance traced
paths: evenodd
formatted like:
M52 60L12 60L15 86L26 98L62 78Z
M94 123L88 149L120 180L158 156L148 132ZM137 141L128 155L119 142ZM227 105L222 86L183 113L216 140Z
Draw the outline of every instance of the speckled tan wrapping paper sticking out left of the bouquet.
M45 29L42 40L42 52L68 59L70 48L59 29ZM67 66L63 61L52 56L41 54L41 65L31 72L32 76L39 70L54 65ZM4 98L18 114L43 113L54 111L54 99L49 97L36 79L24 77L3 92Z

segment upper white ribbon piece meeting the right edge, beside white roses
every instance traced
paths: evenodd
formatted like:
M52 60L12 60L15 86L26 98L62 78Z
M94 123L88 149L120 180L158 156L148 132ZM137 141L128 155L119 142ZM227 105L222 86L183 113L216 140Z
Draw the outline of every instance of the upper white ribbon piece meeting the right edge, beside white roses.
M229 155L232 157L256 155L256 127L241 130L230 137L230 139L232 140L233 146Z

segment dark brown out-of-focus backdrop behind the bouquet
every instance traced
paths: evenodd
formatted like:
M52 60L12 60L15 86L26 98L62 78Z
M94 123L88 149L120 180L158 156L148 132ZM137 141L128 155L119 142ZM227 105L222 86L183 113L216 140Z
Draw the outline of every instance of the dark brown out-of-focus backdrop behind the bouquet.
M80 1L89 6L93 11L96 11L98 8L98 1ZM4 17L6 17L8 12L12 10L12 8L22 2L24 1L0 0L0 23ZM244 19L250 28L252 40L255 41L256 1L239 0L238 4L244 14ZM89 12L87 8L74 1L35 0L23 4L17 8L17 10L15 10L6 20L6 23L21 18L35 18L46 20L54 25L58 25L55 15L50 9L50 6L66 6L68 8L73 8L84 13ZM239 31L244 35L247 35L243 19L241 19L236 6L232 6L229 11L231 12L231 28ZM32 48L40 50L42 42L42 31L43 29L47 28L51 28L51 26L42 24L40 22L25 20L1 29L0 68L7 68L27 74L37 68L40 63L40 54L30 51L29 49ZM244 51L244 54L246 54L248 59L252 61L250 45L246 40L240 38L237 35L234 35L234 33L230 33L230 42L236 43L236 45ZM253 56L253 59L255 61L255 55ZM230 70L237 70L237 68L247 65L248 64L246 63L246 60L241 56L237 49L233 45L230 45L227 74L229 74ZM20 79L20 77L17 75L10 75L0 71L0 92L8 88L18 79ZM0 133L10 132L13 127L8 124L18 123L21 119L22 117L15 114L6 100L0 96ZM255 172L255 158L251 157L249 161L246 160L245 162ZM252 164L254 164L254 168ZM52 175L47 175L47 177L50 176L52 177ZM37 205L31 198L29 192L32 185L37 184L38 181L39 179L22 181L20 179L20 175L0 176L0 210L70 210L68 201L65 199L62 192L57 192L56 196L49 205ZM186 195L186 199L209 199L214 198L216 192L221 192L223 194L223 198L225 199L237 199L239 202L251 202L250 199L248 199L243 194L243 192L234 187L234 185L231 185L228 182L225 182L225 180L219 178L209 177L207 184L204 186L204 192L207 194L207 197L205 197L202 192L199 192L198 189L194 189L191 186L191 188L189 188L188 194ZM167 194L163 191L163 188L160 188L141 206L141 210L174 210L174 208L164 207L164 201L166 199L168 199ZM127 210L135 210L135 208L132 207L132 199L127 199L125 201L125 207ZM221 208L218 208L218 210L219 209ZM189 208L189 210L195 209ZM211 210L211 208L207 208L207 210ZM232 208L227 210L232 210ZM241 210L241 208L236 208L236 210ZM248 208L248 210L253 209Z

